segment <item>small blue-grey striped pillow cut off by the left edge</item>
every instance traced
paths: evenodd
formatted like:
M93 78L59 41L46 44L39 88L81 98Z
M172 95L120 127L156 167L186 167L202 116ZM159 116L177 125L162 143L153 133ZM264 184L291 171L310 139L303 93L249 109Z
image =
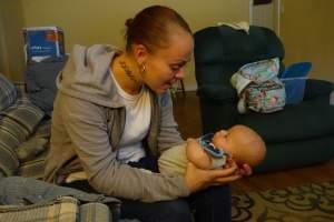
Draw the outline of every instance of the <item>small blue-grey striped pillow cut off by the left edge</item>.
M16 87L0 73L0 111L8 108L17 99Z

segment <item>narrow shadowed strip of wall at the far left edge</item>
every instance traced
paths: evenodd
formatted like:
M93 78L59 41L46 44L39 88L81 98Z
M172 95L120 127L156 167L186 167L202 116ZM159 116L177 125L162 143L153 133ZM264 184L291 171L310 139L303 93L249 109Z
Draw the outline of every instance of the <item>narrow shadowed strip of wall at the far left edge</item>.
M22 14L20 0L0 0L0 72L13 81L23 79Z

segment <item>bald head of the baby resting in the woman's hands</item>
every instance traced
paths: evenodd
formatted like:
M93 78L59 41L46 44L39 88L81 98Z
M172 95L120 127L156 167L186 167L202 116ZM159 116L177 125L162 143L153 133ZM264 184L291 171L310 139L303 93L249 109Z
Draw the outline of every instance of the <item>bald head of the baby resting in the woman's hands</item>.
M227 131L216 132L213 143L229 152L237 164L258 165L266 154L262 138L246 125L234 125Z

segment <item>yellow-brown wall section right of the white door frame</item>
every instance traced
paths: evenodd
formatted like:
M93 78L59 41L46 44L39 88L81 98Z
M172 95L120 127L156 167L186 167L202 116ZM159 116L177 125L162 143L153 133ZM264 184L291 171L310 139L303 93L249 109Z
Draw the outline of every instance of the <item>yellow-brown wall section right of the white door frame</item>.
M334 1L283 0L285 63L312 61L311 77L334 81Z

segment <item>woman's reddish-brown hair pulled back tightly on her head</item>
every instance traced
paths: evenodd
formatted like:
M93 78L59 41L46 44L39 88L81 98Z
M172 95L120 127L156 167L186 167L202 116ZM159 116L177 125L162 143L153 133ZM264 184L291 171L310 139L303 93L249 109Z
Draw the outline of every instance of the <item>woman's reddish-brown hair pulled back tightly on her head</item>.
M188 23L175 10L163 7L148 7L126 21L126 50L131 51L132 43L144 44L150 52L168 47L169 28L177 24L191 34Z

